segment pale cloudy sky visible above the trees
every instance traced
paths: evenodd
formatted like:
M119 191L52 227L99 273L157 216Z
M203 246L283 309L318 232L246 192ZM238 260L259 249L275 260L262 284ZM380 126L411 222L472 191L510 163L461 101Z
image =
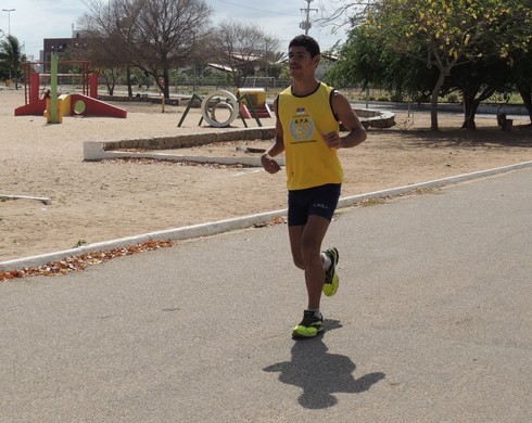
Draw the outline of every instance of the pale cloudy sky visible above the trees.
M301 9L308 5L306 0L269 0L264 2L250 0L205 0L214 9L213 23L224 20L236 20L254 23L266 34L280 40L281 46L294 36L302 34L300 23L305 18ZM72 25L77 27L77 20L87 8L81 0L0 0L2 11L0 29L18 38L24 43L25 52L39 59L43 38L67 38L72 36ZM319 1L311 2L311 9L320 9ZM317 17L311 13L311 20ZM330 34L330 28L313 25L308 35L316 38L321 48L330 48L344 33Z

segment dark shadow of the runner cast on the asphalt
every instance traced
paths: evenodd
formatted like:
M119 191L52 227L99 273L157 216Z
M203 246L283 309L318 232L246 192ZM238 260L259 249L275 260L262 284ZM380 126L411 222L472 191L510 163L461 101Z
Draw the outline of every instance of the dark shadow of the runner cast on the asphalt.
M338 320L327 320L328 330L339 329ZM320 334L311 339L296 341L290 361L268 366L265 372L279 372L279 381L299 386L303 393L299 402L307 409L325 409L334 406L334 394L358 394L368 390L385 377L384 373L368 373L355 379L355 363L346 356L329 354Z

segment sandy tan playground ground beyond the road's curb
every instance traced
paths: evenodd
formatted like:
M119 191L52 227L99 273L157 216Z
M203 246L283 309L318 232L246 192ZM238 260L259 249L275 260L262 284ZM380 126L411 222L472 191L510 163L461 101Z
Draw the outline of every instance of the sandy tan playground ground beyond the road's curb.
M189 115L177 128L183 107L166 106L161 113L159 105L135 103L125 105L127 119L65 117L61 125L48 125L39 116L15 117L14 108L23 104L23 90L0 91L0 196L46 196L52 203L0 201L0 261L286 207L283 172L83 161L84 141L211 130L198 126L199 115ZM365 143L340 152L346 176L343 196L532 159L532 130L525 116L514 121L511 132L502 132L495 116L479 117L479 129L466 131L458 129L459 115L440 114L438 133L428 130L427 113L407 117L397 112L396 121L391 129L369 129ZM231 154L237 146L270 143L192 150L199 154L223 149Z

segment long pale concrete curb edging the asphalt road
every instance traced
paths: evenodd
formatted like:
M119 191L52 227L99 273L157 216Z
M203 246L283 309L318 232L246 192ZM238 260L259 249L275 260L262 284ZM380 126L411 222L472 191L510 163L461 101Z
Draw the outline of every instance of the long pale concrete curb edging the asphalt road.
M497 167L489 170L481 170L471 174L463 174L455 177L436 179L428 182L414 183L410 185L370 192L367 194L354 195L354 196L341 198L338 206L339 208L351 207L364 200L397 196L397 195L406 194L413 190L441 188L444 185L459 183L476 178L485 178L492 175L503 174L511 170L518 170L525 167L532 167L532 161L519 163L516 165ZM207 223L194 225L194 226L182 227L182 228L167 229L167 230L135 235L135 236L111 240L101 243L83 245L77 248L64 249L50 254L2 261L0 262L0 270L9 271L9 270L17 270L27 267L39 267L50 261L64 259L65 257L78 256L86 253L93 253L99 251L107 251L107 249L126 247L130 245L137 245L150 240L187 240L192 238L210 236L223 232L229 232L232 230L251 228L255 225L264 225L277 217L286 216L286 214L287 214L287 209L280 209L280 210L274 210L274 211L268 211L263 214L238 217L233 219L220 220L216 222L207 222Z

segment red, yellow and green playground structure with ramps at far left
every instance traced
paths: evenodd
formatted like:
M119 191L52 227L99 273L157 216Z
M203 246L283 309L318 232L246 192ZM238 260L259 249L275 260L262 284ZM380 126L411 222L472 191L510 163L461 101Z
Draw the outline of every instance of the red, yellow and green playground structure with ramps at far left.
M83 93L58 95L58 65L78 65L81 67ZM39 63L24 63L24 98L25 105L15 108L15 116L45 116L50 124L59 124L63 116L105 116L126 118L127 111L98 100L98 74L89 74L89 62L59 62L56 53L52 53L50 63L51 89L42 98L39 97L40 75L33 70ZM45 63L40 63L45 64Z

